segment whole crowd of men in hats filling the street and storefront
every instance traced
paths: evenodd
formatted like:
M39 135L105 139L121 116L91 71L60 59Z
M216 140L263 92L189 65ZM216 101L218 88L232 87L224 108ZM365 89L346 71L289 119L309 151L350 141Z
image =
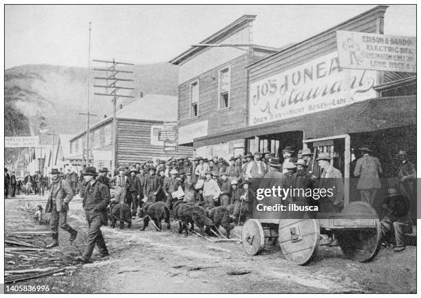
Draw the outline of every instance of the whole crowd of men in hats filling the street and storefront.
M373 205L376 192L380 188L382 168L376 157L371 156L369 146L358 149L361 157L356 159L353 175L358 178L357 189L360 200ZM236 219L249 215L256 203L257 188L325 188L334 190L333 196L314 200L305 196L290 196L287 203L303 205L316 204L319 211L338 213L343 208L344 183L341 171L334 168L333 157L329 152L314 154L310 149L299 150L294 157L294 150L285 147L281 157L268 152L248 152L244 156L231 157L229 161L213 157L171 158L167 161L156 159L145 163L136 163L130 167L116 169L114 176L107 168L87 167L79 176L70 170L63 174L53 169L51 183L41 173L25 176L24 183L29 187L36 185L34 192L41 195L41 186L51 190L46 211L52 212L50 226L53 242L47 247L58 245L58 226L70 233L70 241L76 239L77 231L66 223L69 201L76 192L83 198L87 220L89 222L88 246L81 262L87 262L94 246L98 244L102 255L108 255L105 242L100 232L101 225L107 225L105 207L112 198L118 203L131 207L131 215L143 217L142 205L146 202L164 201L170 209L177 200L197 203L206 207L233 207ZM406 152L400 150L396 157L400 160L397 169L398 185L390 188L382 204L381 216L384 239L395 242L394 251L405 248L404 233L410 233L410 199L416 194L415 166L408 161ZM16 183L14 173L8 175L5 169L6 185ZM13 188L12 188L13 190ZM12 194L14 196L14 192ZM337 245L332 234L321 241L322 245Z

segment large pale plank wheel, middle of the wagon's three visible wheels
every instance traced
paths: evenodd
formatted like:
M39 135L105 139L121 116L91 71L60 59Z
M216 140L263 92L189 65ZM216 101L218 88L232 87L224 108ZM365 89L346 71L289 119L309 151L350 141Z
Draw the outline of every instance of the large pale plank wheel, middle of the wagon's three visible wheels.
M283 219L279 222L278 241L285 258L298 265L309 262L319 247L319 221Z

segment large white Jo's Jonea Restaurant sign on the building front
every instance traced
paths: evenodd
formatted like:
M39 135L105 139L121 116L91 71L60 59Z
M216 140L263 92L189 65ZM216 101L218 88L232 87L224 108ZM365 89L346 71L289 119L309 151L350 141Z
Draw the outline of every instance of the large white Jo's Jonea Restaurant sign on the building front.
M343 69L338 52L250 84L250 126L339 108L376 97L377 71Z

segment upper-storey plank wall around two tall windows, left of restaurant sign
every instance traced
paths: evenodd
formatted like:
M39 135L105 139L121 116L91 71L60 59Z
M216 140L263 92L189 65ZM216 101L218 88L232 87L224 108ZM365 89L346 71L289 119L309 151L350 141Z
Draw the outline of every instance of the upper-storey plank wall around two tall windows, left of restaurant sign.
M181 84L178 88L179 126L208 120L208 134L219 133L246 126L246 89L248 55L238 58L202 73L202 75ZM230 107L218 110L218 71L230 66ZM190 84L199 81L199 115L189 117Z

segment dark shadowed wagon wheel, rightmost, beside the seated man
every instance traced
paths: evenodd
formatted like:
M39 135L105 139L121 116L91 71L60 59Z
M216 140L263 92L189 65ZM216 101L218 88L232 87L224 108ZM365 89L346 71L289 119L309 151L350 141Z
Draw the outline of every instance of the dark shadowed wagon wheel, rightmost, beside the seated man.
M347 259L358 262L367 262L373 259L380 249L380 238L382 236L380 220L376 210L367 203L352 202L343 209L341 214L362 215L362 218L373 218L375 225L372 228L357 228L335 233L339 246Z

